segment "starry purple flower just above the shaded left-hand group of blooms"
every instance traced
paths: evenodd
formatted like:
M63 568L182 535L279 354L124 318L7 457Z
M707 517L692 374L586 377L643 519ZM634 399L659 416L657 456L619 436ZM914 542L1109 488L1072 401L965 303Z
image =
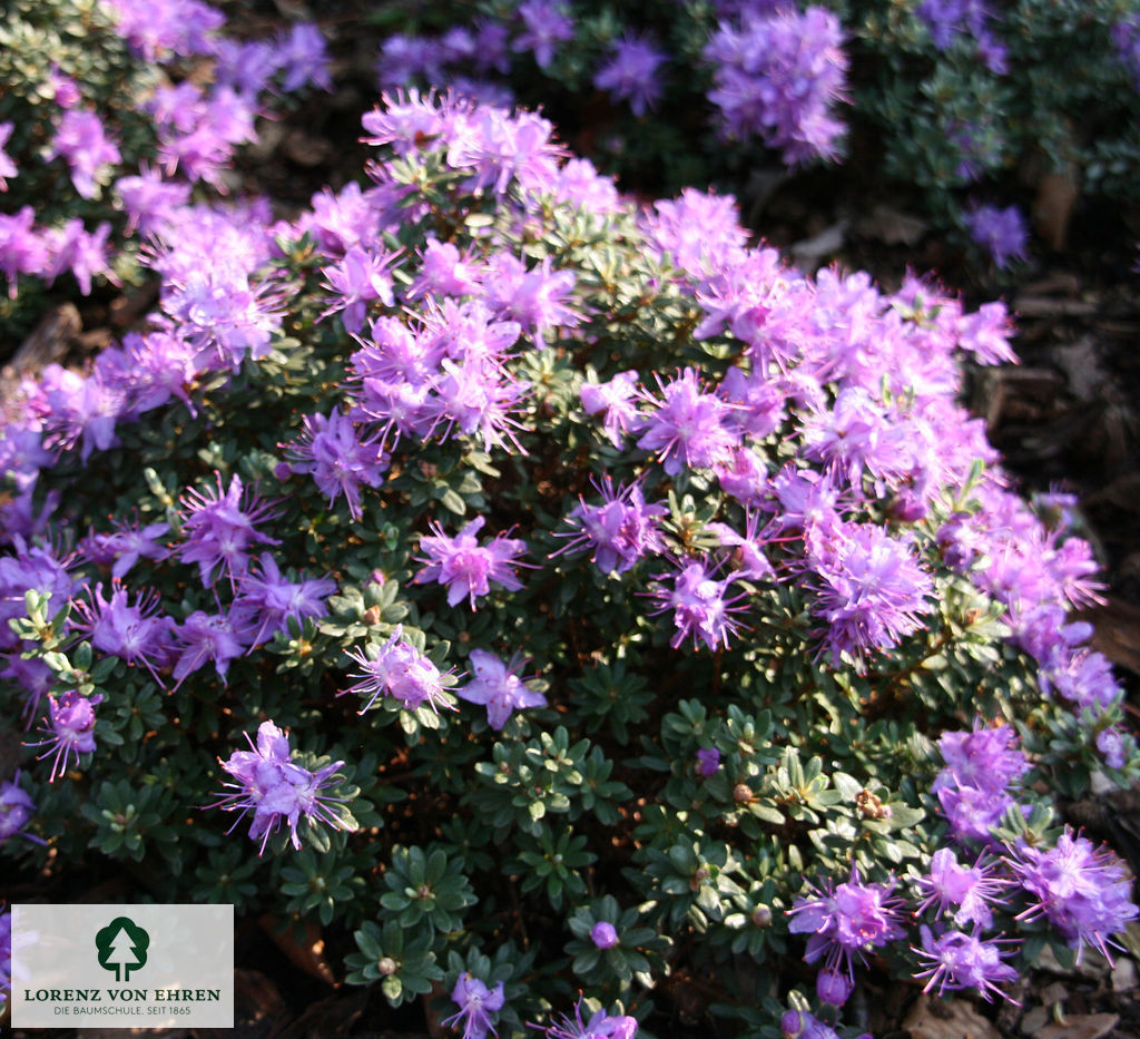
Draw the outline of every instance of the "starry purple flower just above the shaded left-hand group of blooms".
M242 478L234 474L229 489L221 489L221 473L215 472L217 490L187 490L180 498L182 533L186 541L174 549L184 562L196 562L202 584L210 587L221 569L230 584L250 566L249 550L254 544L280 544L255 525L277 516L274 502L263 502L247 492Z

